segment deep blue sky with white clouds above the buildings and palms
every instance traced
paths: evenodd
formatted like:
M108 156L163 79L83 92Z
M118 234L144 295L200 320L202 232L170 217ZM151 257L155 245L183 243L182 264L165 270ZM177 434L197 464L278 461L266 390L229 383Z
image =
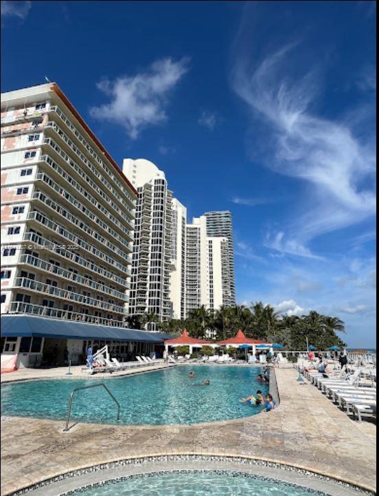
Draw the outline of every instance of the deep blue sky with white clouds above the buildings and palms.
M374 2L1 3L2 91L47 76L189 217L230 210L238 303L375 345Z

